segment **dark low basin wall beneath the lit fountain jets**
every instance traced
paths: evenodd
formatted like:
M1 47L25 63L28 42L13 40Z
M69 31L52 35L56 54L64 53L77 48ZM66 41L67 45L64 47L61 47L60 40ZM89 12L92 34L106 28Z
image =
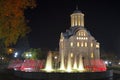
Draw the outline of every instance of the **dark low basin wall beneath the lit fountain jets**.
M39 79L39 80L93 80L105 79L113 77L113 71L107 70L104 72L23 72L15 71L15 76L25 79Z

